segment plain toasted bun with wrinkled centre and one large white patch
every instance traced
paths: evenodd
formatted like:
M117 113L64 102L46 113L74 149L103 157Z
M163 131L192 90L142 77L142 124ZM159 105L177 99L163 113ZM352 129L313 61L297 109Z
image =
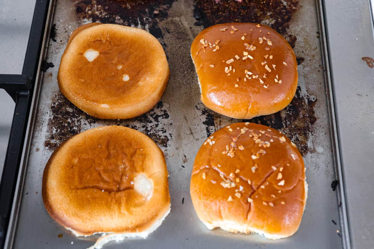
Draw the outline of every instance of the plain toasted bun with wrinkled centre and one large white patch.
M140 174L153 182L151 196L134 189ZM52 218L80 235L144 231L170 206L163 152L130 128L87 130L62 143L49 159L43 201Z

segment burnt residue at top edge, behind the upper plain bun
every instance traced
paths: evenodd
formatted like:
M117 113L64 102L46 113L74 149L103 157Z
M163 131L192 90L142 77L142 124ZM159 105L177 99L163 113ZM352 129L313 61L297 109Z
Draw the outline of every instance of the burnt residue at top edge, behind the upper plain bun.
M145 27L157 38L162 37L157 27L168 16L174 0L74 0L80 19L92 22Z

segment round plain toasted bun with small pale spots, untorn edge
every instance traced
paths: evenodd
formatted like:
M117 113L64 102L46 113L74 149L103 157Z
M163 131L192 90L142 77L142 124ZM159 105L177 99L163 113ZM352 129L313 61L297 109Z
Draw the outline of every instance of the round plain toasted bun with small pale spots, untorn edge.
M169 66L148 32L116 24L86 24L70 36L57 75L62 94L103 119L134 118L160 100Z

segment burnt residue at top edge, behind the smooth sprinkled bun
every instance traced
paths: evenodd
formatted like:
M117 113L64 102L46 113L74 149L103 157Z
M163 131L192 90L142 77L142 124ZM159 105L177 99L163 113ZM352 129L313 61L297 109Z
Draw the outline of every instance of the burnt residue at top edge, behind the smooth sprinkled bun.
M196 0L195 25L208 28L225 22L254 22L268 25L283 35L295 47L297 38L288 34L288 22L298 10L298 0Z

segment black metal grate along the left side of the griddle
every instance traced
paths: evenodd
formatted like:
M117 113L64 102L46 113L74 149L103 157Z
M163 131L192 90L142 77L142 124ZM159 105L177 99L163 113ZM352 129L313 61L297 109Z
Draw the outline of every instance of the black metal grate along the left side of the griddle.
M0 181L0 248L4 246L12 210L49 2L36 0L22 74L0 74L0 88L6 90L16 103Z

